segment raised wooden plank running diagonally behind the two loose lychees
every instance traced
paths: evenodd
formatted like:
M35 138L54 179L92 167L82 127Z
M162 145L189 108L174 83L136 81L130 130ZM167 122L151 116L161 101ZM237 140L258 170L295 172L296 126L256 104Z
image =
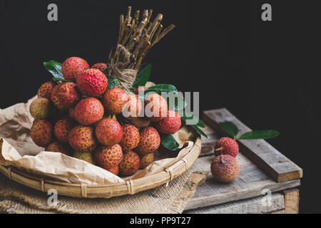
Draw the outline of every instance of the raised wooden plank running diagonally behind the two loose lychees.
M225 108L203 112L203 121L214 130L218 130L221 135L226 135L226 133L218 123L224 121L237 125L240 130L239 134L251 130ZM239 146L240 152L249 157L276 182L287 182L302 177L302 169L265 140L239 140Z

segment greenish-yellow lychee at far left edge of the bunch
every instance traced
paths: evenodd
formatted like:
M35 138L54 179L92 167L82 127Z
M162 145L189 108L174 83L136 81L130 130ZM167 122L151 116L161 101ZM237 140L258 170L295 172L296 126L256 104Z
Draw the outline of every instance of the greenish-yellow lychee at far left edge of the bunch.
M46 120L49 118L52 108L50 100L47 98L38 98L30 104L29 111L36 120Z

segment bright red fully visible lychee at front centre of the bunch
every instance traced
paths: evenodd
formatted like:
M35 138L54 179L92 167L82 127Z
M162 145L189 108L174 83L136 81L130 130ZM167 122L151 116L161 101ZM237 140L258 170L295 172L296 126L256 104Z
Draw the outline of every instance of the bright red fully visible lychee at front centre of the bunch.
M96 138L102 145L111 147L121 142L123 128L117 120L106 118L96 126Z

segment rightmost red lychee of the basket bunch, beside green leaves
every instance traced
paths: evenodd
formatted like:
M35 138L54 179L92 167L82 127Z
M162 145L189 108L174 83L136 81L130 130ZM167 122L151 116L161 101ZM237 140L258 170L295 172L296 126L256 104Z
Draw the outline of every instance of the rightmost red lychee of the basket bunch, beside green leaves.
M156 129L163 134L173 134L180 129L181 120L178 112L168 111L168 116L156 123Z

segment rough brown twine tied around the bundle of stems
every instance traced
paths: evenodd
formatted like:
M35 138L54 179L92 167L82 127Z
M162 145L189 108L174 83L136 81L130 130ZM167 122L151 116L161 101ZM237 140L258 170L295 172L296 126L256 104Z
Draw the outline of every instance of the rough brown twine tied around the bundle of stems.
M125 86L126 88L131 88L137 74L136 70L126 68L131 62L131 53L124 46L118 44L115 56L115 60L111 58L111 63L108 63L106 72L118 79L117 87Z

